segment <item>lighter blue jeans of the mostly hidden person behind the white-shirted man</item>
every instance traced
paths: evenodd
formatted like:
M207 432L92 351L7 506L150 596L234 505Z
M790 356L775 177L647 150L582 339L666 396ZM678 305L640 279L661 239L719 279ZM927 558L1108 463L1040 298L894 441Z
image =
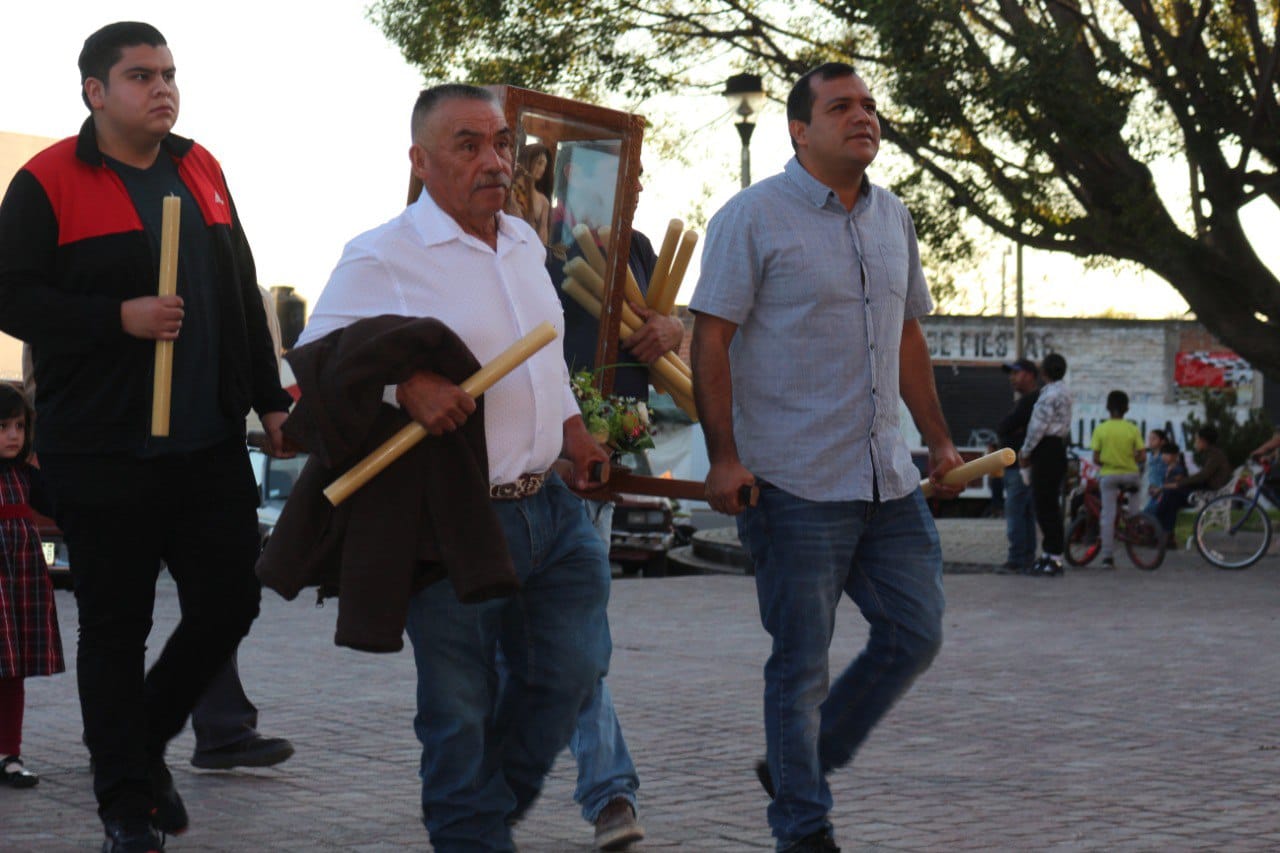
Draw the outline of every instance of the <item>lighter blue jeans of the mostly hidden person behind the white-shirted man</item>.
M613 505L607 501L582 503L607 548L613 532ZM594 824L600 811L620 797L639 813L636 789L640 788L640 777L622 736L622 726L613 710L613 697L609 695L604 679L596 683L590 701L577 715L577 727L573 729L568 748L577 761L573 799L582 807L582 817L588 824Z

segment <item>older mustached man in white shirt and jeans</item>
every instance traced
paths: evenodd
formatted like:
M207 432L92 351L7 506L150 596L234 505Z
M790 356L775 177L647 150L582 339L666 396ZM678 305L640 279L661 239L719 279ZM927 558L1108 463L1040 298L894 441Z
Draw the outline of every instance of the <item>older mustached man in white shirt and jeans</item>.
M515 140L494 96L457 85L426 90L412 133L421 197L346 247L300 343L367 316L431 316L485 362L539 323L563 333L541 242L502 213ZM388 389L387 400L433 435L475 412L470 396L430 373ZM538 795L529 770L540 784L611 652L608 553L581 501L549 473L564 456L585 488L590 465L607 459L582 424L561 347L543 348L485 392L484 419L492 503L521 590L462 605L436 583L410 605L422 821L438 853L515 849L509 826ZM500 685L499 643L508 670Z

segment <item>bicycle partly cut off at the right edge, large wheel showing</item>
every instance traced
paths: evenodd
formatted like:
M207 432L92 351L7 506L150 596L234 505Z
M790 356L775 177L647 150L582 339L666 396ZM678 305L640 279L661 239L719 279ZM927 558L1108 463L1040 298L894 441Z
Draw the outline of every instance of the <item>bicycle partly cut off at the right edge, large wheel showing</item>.
M1271 516L1262 500L1277 506L1280 498L1266 483L1271 462L1258 467L1261 476L1247 465L1236 492L1217 496L1196 515L1196 549L1219 569L1248 569L1271 547Z

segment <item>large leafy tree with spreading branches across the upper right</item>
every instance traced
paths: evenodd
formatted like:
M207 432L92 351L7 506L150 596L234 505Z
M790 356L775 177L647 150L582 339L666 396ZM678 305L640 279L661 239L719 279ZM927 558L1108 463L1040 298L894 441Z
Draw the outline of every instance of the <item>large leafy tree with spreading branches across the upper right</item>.
M858 65L906 152L895 182L941 257L957 216L1085 259L1137 263L1280 377L1280 280L1240 224L1280 206L1280 0L378 0L430 79L570 96L710 88L708 60L786 91L828 59ZM1189 210L1151 164L1185 163Z

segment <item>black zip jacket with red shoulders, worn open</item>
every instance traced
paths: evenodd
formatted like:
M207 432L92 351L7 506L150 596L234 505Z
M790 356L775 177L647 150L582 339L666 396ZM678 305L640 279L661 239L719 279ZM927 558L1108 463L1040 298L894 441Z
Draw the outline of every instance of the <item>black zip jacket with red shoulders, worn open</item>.
M219 405L243 421L288 411L253 256L221 167L169 134L173 158L209 228L219 305ZM23 167L0 202L0 330L31 345L36 448L131 452L150 434L155 342L127 334L120 304L154 296L159 260L119 175L102 160L90 118Z

